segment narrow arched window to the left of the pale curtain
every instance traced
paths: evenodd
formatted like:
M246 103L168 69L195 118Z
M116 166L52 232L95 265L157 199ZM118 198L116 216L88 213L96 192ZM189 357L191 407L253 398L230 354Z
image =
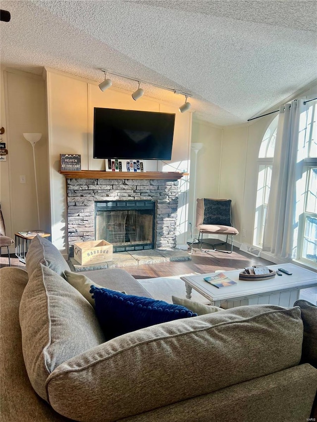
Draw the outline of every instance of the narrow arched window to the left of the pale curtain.
M265 132L258 158L258 187L253 244L260 247L263 245L264 224L271 184L277 123L278 116L275 117Z

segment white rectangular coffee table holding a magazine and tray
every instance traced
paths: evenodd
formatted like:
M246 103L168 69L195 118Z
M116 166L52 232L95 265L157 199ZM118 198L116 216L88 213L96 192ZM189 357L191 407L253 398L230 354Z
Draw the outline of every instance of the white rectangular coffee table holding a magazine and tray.
M276 275L273 279L262 281L242 281L239 280L239 273L242 270L225 271L223 273L237 284L220 289L204 280L204 277L215 273L181 277L181 280L185 281L188 299L191 299L192 289L194 289L210 300L212 305L222 304L226 308L257 304L291 307L299 298L301 289L317 286L315 271L295 264L270 265L268 268L274 271L284 268L293 274L291 276Z

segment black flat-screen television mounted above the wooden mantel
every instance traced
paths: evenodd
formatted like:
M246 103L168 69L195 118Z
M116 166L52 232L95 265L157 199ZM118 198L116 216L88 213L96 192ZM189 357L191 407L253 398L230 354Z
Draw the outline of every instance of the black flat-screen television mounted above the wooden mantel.
M94 158L170 160L175 114L94 108Z

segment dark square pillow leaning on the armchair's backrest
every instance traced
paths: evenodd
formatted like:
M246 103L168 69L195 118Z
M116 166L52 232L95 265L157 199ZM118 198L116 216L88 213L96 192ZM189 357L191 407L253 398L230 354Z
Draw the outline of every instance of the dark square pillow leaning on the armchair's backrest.
M231 199L204 198L203 224L231 227Z

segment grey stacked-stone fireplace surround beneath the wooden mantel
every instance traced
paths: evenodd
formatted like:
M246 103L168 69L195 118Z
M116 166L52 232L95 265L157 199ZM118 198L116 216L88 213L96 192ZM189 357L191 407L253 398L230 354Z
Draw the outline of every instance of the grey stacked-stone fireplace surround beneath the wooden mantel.
M77 173L77 172L74 172ZM102 172L100 172L102 173ZM146 174L146 173L145 173ZM173 179L114 179L112 178L72 178L69 173L66 176L67 186L67 233L69 256L73 256L73 245L76 242L86 240L96 240L98 236L98 215L96 209L98 203L122 203L135 204L141 201L149 207L149 202L153 203L153 239L151 248L166 249L176 246L176 226L177 226L177 208L178 208L178 180ZM166 175L167 177L167 175ZM97 208L96 208L97 207ZM111 206L112 208L112 206ZM138 206L136 206L138 208ZM121 210L118 210L121 211ZM145 213L149 215L148 213ZM123 218L123 217L122 217ZM133 221L135 234L125 234L123 243L132 245L132 249L120 250L139 250L148 248L149 242L143 242L143 245L136 244L136 233L145 229L137 228L139 217L129 217ZM146 225L150 224L150 217L144 220ZM113 221L112 221L113 223ZM98 229L98 230L97 230ZM131 229L132 230L132 229ZM130 230L130 232L131 232ZM118 230L119 234L122 230ZM110 232L99 232L110 233ZM132 232L131 232L132 233ZM112 236L112 237L111 237ZM115 230L112 228L112 241L115 239ZM129 237L130 236L130 237ZM147 236L147 235L146 235ZM97 239L99 240L99 239ZM111 240L105 238L104 240ZM117 239L116 239L117 240ZM126 246L126 245L125 245Z

